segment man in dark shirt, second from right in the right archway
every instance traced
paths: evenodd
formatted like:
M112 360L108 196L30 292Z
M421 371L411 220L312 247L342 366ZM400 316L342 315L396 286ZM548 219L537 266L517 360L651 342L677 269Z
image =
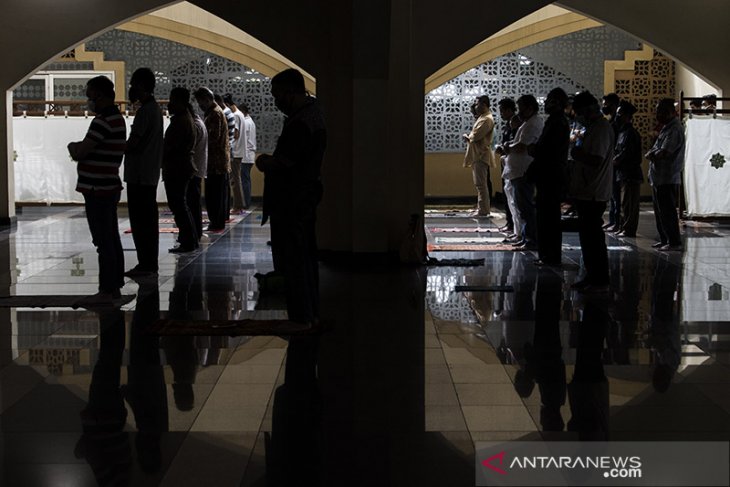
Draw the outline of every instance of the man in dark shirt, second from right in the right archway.
M621 100L616 121L618 134L613 151L613 168L621 184L621 226L619 237L636 237L639 226L639 197L644 175L641 172L641 136L631 123L636 107Z

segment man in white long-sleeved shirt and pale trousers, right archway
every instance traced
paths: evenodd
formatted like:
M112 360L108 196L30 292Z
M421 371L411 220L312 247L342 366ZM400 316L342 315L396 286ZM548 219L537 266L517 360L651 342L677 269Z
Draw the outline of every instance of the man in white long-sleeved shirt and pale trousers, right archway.
M523 95L517 100L517 114L522 125L512 142L504 147L506 157L502 179L506 180L504 190L518 237L514 242L515 249L519 250L537 248L535 207L532 203L535 184L525 177L525 173L532 163L527 147L536 143L542 134L543 121L537 116L538 110L539 105L532 95Z

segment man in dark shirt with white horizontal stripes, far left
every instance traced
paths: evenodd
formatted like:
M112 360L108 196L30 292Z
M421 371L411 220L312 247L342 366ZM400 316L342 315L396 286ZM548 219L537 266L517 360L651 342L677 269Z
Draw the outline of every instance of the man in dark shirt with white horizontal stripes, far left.
M119 238L117 204L122 192L119 166L124 156L127 127L114 104L114 83L97 76L86 84L89 109L96 113L84 140L71 142L68 152L78 162L76 191L84 196L86 219L99 254L99 292L83 306L121 304L124 253Z

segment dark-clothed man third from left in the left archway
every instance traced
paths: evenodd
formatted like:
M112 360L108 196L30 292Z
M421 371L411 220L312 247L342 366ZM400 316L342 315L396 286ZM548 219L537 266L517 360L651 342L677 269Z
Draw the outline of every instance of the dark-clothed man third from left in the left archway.
M192 252L198 248L193 217L186 202L188 185L195 175L195 122L188 112L189 100L190 92L185 88L173 88L170 92L168 109L172 118L165 132L162 151L162 180L167 203L180 231L179 245L169 250L173 254Z

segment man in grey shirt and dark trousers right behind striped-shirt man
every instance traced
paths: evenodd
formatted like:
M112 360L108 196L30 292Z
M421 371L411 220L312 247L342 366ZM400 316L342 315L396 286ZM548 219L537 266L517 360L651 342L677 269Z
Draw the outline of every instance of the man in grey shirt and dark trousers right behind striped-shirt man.
M139 101L124 153L124 181L132 239L137 249L137 265L125 272L128 277L157 274L160 223L157 184L162 164L162 110L155 100L155 74L139 68L129 82L130 101Z

